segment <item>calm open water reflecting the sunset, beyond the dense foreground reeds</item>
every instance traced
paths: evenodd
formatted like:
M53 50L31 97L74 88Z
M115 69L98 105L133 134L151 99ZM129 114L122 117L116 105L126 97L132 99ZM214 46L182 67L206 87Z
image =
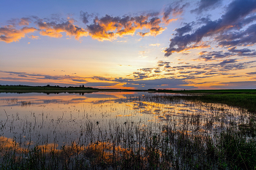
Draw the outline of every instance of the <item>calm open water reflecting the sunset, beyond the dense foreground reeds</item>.
M247 112L235 107L166 96L173 94L0 93L0 137L18 142L20 147L61 147L108 139L113 129L128 124L137 125L140 131L150 127L152 133L165 133L159 125L171 124L175 131L186 126L190 134L212 135L249 120Z

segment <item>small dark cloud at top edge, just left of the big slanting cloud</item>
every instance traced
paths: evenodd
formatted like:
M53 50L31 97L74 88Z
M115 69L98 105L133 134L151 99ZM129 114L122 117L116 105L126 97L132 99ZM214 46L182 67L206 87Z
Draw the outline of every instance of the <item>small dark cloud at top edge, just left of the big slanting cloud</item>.
M191 10L190 12L195 12L197 15L204 11L208 11L210 9L215 9L222 4L222 0L200 0L197 4L197 8Z

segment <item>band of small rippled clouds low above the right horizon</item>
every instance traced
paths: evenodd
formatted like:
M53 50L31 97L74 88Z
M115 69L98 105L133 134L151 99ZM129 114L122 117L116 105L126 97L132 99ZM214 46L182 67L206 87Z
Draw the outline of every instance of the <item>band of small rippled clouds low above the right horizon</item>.
M202 52L201 54L207 54L208 52ZM226 56L223 53L215 51L209 53L209 55L216 55L217 62L215 63L198 63L181 66L170 66L170 62L158 61L157 68L145 68L138 69L138 72L133 72L133 80L123 80L122 82L129 82L135 80L149 80L149 78L159 79L162 77L170 76L171 79L185 79L187 80L203 80L210 77L217 77L219 75L234 74L234 71L250 69L252 64L256 61L238 62L237 59L225 59ZM215 56L211 57L214 58ZM219 60L220 59L220 60ZM135 87L135 86L132 86Z

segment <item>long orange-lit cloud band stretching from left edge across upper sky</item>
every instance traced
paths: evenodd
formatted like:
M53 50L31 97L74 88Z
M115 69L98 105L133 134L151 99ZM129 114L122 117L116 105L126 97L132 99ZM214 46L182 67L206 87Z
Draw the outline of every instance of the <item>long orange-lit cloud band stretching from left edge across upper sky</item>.
M53 38L61 38L63 33L67 36L74 36L78 40L83 36L91 36L92 39L97 39L98 41L112 41L117 37L133 36L135 34L143 37L157 36L162 34L166 29L162 25L167 25L172 21L178 20L178 18L172 17L181 15L186 6L187 4L180 5L176 3L166 7L163 12L142 12L140 15L124 15L122 17L110 15L99 17L81 11L80 20L86 24L84 28L76 25L75 22L77 21L75 19L63 19L60 15L51 15L50 18L43 19L37 16L12 19L8 21L10 23L9 26L0 28L0 40L8 43L17 42L29 33L25 31L28 27L20 29L17 26L29 26L30 24L36 24L33 31L38 30L41 36L50 36ZM31 28L30 32L33 31ZM34 39L33 36L29 37Z

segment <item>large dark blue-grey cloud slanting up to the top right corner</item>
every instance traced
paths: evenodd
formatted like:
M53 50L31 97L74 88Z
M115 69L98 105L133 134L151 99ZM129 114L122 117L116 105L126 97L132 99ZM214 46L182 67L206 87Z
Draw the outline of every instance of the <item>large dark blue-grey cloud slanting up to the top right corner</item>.
M184 34L187 33L187 31L190 30L190 26L193 25L193 23L187 23L187 25L184 26L184 31L181 29L180 32L177 32L177 34L170 39L170 46L165 50L165 56L187 50L188 45L196 45L202 41L203 37L219 36L219 34L225 34L231 29L240 29L238 26L241 26L241 23L246 20L246 17L252 14L252 12L255 12L255 9L256 1L254 0L235 0L227 6L225 14L218 20L201 18L198 24L203 21L204 25L195 29L195 31L190 34ZM250 22L252 21L253 20L250 20ZM248 20L246 20L246 22L249 23ZM176 31L179 31L179 29L176 29ZM235 44L237 43L238 42Z

